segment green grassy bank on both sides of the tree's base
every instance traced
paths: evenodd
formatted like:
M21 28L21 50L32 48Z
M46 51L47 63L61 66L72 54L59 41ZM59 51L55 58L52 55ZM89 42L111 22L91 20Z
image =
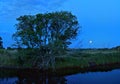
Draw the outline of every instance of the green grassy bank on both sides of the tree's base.
M29 51L30 52L30 51ZM0 50L0 66L32 67L34 53L17 50ZM98 65L120 63L120 52L117 50L69 50L55 56L55 68L94 67Z

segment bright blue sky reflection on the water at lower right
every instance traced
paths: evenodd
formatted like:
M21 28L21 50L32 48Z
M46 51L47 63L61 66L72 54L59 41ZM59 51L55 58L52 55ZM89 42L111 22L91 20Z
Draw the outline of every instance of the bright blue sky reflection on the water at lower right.
M109 72L89 72L65 77L67 84L120 84L120 69Z

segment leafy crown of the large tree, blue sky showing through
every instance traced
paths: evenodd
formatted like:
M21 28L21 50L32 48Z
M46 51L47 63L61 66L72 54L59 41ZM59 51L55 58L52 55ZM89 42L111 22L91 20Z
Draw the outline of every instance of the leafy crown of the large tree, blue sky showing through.
M76 16L67 11L24 15L17 21L13 37L21 47L27 48L66 49L79 29Z

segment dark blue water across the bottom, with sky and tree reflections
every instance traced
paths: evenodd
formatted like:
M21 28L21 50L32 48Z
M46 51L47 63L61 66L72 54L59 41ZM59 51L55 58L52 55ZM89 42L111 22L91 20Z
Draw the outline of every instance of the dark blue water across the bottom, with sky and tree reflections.
M13 71L14 72L14 71ZM0 84L120 84L120 69L108 72L86 72L65 76L45 73L0 73ZM4 75L5 74L5 75Z

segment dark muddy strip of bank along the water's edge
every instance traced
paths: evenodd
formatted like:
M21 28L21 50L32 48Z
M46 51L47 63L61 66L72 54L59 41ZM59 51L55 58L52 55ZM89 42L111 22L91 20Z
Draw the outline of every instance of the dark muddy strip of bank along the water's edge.
M76 73L107 72L107 71L112 71L114 69L120 69L120 63L96 65L93 67L84 67L84 68L80 68L79 66L57 68L54 72L51 69L41 70L39 68L30 68L30 67L0 67L0 74L1 74L0 77L6 77L6 76L14 77L15 75L33 76L33 73L35 76L40 74L46 74L49 76L67 76Z

